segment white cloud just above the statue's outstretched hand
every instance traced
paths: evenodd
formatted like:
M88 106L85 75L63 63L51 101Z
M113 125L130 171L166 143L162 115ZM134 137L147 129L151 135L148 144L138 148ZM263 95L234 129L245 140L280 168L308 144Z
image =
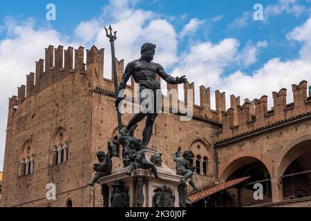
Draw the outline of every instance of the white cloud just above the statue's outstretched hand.
M267 41L249 43L241 50L239 46L237 39L223 39L218 44L210 41L195 44L181 56L173 75L187 74L189 81L195 81L197 86L220 86L224 68L254 64L260 48L267 47Z

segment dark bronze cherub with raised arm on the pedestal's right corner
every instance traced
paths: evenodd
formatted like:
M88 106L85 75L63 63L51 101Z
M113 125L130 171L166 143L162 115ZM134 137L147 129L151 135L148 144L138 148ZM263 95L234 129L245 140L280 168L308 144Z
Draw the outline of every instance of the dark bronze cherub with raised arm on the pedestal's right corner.
M182 175L180 180L182 183L185 183L186 180L190 179L189 184L195 191L197 191L198 188L196 187L192 177L196 167L189 162L194 157L194 153L192 153L192 151L185 151L182 154L182 157L180 157L180 150L181 147L178 146L176 153L173 155L173 160L176 162L176 173L177 175Z

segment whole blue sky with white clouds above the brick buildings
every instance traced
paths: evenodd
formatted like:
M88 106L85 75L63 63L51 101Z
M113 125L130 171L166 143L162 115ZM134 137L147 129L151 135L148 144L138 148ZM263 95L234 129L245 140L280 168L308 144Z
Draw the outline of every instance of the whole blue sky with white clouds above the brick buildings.
M46 5L56 20L46 20ZM253 19L254 4L263 21ZM155 61L172 75L219 89L241 99L269 96L311 79L311 0L275 1L1 1L0 10L0 170L3 164L8 97L26 84L48 45L106 48L103 26L118 31L116 55L129 62L145 41L157 44ZM110 67L105 66L105 77ZM165 85L163 84L164 88ZM211 95L212 107L214 99ZM198 103L196 89L196 103ZM229 106L227 105L227 108Z

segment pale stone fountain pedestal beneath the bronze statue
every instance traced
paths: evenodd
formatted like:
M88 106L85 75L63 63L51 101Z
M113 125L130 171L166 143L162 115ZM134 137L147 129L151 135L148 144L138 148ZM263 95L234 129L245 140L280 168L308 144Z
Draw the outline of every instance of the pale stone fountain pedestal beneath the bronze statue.
M146 149L144 154L150 161L152 155L159 153ZM156 166L156 169L160 179L144 169L136 169L131 176L127 175L127 168L123 166L111 175L100 178L100 184L106 189L103 191L107 201L104 204L109 207L180 207L178 186L181 176L164 164Z

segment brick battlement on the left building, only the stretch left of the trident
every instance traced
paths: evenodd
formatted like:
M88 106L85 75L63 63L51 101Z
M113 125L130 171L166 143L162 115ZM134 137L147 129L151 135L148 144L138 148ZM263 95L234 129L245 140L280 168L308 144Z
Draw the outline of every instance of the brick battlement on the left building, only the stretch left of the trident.
M41 90L68 75L86 75L86 73L93 75L95 70L98 76L103 75L104 49L97 50L93 46L91 50L86 50L86 61L84 61L84 51L84 47L78 49L68 47L66 50L64 46L45 48L45 59L36 61L35 73L26 75L26 86L19 86L17 104L14 106L21 105L28 97L37 95ZM10 99L10 106L13 106L12 102L15 102L15 99Z

